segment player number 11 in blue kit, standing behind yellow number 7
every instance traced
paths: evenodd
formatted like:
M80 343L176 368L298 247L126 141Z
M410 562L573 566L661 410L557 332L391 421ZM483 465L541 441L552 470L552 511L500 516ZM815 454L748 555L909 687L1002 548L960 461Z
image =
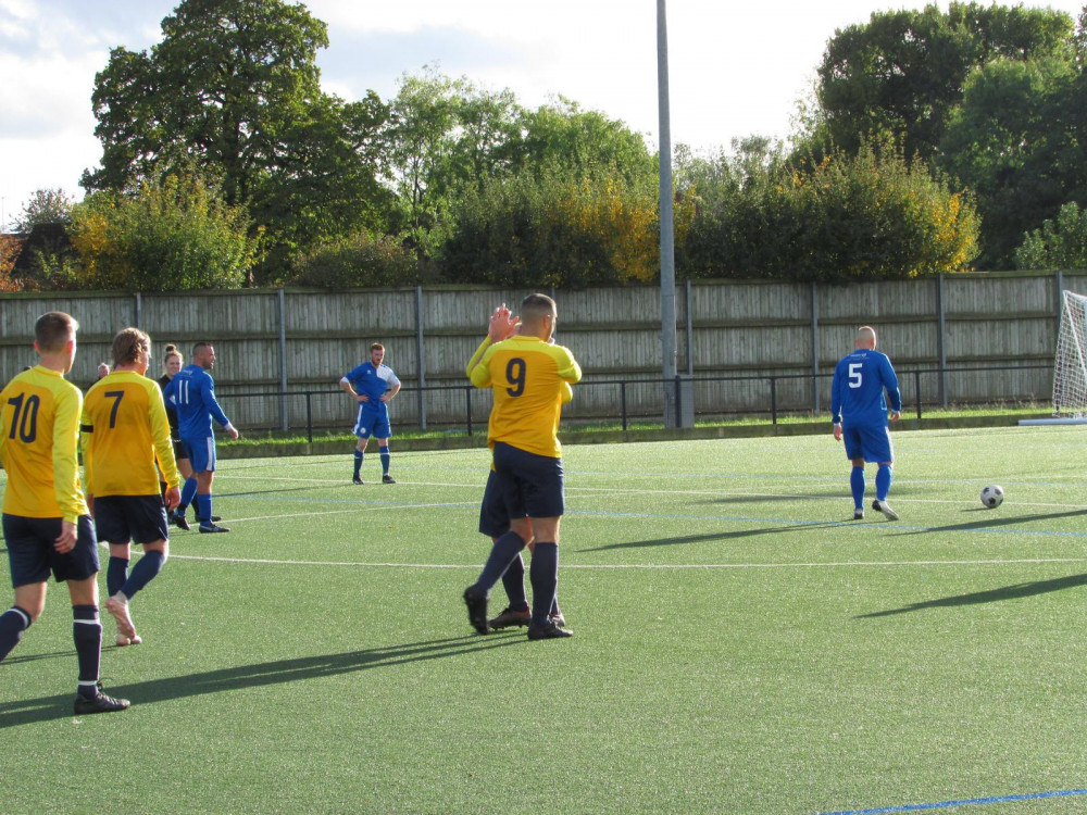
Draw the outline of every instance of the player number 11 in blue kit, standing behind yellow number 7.
M232 439L238 431L215 399L215 380L208 372L215 365L215 349L210 342L197 342L192 347L192 362L177 372L163 393L166 404L177 412L177 428L188 453L192 477L185 480L182 502L174 510L171 521L182 529L188 529L185 510L196 498L197 517L202 532L228 532L218 526L211 513L211 482L215 477L215 434L212 419L218 422Z

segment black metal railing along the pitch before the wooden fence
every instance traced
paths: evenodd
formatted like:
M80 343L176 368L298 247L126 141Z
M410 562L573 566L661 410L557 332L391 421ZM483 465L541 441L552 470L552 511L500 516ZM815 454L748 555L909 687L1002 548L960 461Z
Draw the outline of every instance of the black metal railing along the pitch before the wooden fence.
M920 419L923 415L923 406L925 404L924 392L922 389L922 377L924 376L948 376L953 377L959 374L970 374L970 373L1000 373L1000 372L1027 372L1027 371L1051 371L1050 365L1016 365L1016 366L989 366L989 367L959 367L959 368L914 368L898 372L900 385L910 381L913 385L912 397L912 409L916 413L916 417ZM739 376L690 376L690 375L679 375L674 379L665 379L663 377L645 377L645 378L619 378L619 379L595 379L595 380L583 380L577 385L578 389L587 388L617 388L617 403L612 402L613 410L611 412L597 412L591 416L582 416L585 421L614 421L619 419L621 427L626 430L629 428L630 424L630 405L628 399L628 390L634 386L658 386L661 389L661 404L660 411L657 413L639 413L639 416L648 417L652 416L663 416L663 397L664 388L675 388L675 404L676 404L676 415L683 416L684 411L689 409L690 414L695 415L697 403L690 405L686 404L686 400L695 400L694 386L695 385L709 385L709 384L735 384L735 383L765 383L767 386L767 404L764 405L762 410L745 409L742 411L744 415L759 415L760 413L769 413L771 424L776 425L778 418L783 413L783 409L778 403L778 384L788 383L796 380L805 380L811 384L812 393L817 393L821 387L821 380L833 379L834 374L745 374ZM829 390L829 381L826 383L826 390ZM941 389L936 387L933 389L935 394L938 394ZM434 393L441 391L461 391L464 393L464 428L468 436L474 435L476 425L479 424L478 419L473 418L473 392L476 391L471 384L465 383L464 385L435 385L425 386L423 388L413 388L410 386L404 386L401 388L401 393L405 392L418 392L423 393ZM309 441L313 441L313 399L315 397L342 397L343 391L339 389L322 389L322 390L273 390L273 391L243 391L235 393L218 393L218 400L221 402L229 402L233 400L240 399L278 399L284 400L285 398L302 398L305 402L305 435ZM815 403L817 402L816 400ZM903 412L905 411L905 400L903 399ZM937 403L936 397L928 402L928 404ZM790 409L792 412L797 412L802 409ZM229 413L229 411L227 411ZM703 415L712 414L720 415L722 411L702 411ZM813 411L814 413L814 411ZM662 419L663 421L663 419ZM425 422L425 419L424 419ZM455 423L459 424L459 423ZM322 425L323 427L326 425ZM420 423L421 429L426 429L424 423ZM289 429L289 428L288 428ZM301 428L299 428L301 429Z

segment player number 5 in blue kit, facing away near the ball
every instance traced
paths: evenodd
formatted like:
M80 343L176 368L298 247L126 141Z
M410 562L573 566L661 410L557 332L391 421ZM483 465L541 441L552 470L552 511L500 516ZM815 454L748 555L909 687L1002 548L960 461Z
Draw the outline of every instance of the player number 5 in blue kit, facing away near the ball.
M878 462L879 469L876 472L876 500L872 502L872 509L882 512L889 521L898 521L898 513L887 503L891 465L895 463L895 450L887 430L887 399L890 400L890 418L897 421L902 412L898 376L887 354L876 351L874 328L858 328L853 344L857 350L838 362L830 387L834 438L836 441L845 440L846 457L853 463L849 476L853 519L864 517L864 463L874 461Z

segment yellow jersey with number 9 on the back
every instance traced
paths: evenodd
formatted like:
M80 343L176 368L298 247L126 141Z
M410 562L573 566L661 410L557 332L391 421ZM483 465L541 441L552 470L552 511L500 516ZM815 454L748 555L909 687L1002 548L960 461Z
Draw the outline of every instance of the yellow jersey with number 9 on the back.
M570 349L521 335L492 346L486 339L467 374L473 385L495 396L487 426L491 448L502 441L536 455L562 455L559 416L573 397L570 386L582 378Z

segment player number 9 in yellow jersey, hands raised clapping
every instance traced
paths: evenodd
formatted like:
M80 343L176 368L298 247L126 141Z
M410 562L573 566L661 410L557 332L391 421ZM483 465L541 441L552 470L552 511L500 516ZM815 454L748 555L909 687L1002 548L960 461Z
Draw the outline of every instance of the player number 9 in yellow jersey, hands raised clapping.
M493 475L484 492L480 531L495 535L498 530L484 528L485 522L502 510L510 522L508 531L495 540L479 579L464 590L468 623L479 634L489 630L491 587L521 550L534 543L528 638L573 635L555 625L551 612L559 584L559 524L565 511L559 417L582 368L569 349L552 342L557 317L554 300L546 294L526 297L520 321L500 305L467 367L472 384L490 388L495 400L487 428Z

